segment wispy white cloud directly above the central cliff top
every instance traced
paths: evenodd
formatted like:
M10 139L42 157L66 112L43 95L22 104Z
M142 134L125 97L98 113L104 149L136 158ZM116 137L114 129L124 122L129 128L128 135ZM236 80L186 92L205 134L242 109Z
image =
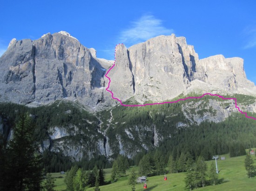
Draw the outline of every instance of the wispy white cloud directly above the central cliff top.
M130 46L159 35L171 35L173 32L173 29L167 29L162 25L162 20L156 19L153 15L144 15L121 32L119 42Z

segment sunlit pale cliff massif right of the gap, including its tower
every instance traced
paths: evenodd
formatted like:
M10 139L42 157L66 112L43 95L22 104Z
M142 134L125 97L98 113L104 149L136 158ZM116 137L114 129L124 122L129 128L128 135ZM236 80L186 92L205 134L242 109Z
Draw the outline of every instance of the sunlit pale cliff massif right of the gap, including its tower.
M122 101L135 96L141 103L162 102L200 90L256 95L256 86L246 79L242 58L216 55L199 60L194 47L174 34L151 38L128 51L118 45L113 72L111 88Z

